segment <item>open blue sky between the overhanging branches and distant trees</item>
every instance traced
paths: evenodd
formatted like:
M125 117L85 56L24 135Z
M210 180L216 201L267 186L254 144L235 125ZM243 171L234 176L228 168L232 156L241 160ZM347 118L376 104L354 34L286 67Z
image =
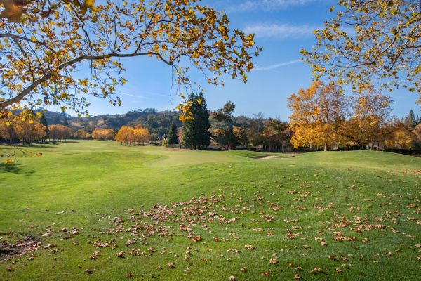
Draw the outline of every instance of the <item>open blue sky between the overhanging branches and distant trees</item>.
M255 42L264 51L253 60L255 70L248 74L248 83L224 79L225 87L206 84L203 79L208 108L215 110L227 100L236 105L234 115L262 112L265 117L287 120L290 115L286 98L311 82L311 70L300 62L300 49L311 49L315 43L312 31L330 18L328 9L333 0L213 0L203 1L218 10L224 10L231 20L232 28L255 33ZM171 68L152 58L130 58L122 60L128 83L119 89L123 101L121 107L113 107L107 101L91 99L91 115L124 113L128 110L154 107L172 110L179 99L171 93ZM399 90L387 93L394 100L393 115L402 117L412 108L420 115L416 105L417 95ZM54 109L50 107L49 109ZM72 112L69 112L72 113Z

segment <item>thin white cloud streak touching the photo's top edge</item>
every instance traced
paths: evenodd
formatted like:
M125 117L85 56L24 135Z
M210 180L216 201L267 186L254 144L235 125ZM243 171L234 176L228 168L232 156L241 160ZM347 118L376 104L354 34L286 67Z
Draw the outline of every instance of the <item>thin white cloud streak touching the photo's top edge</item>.
M290 6L303 6L317 0L248 0L236 6L230 6L229 11L252 11L255 9L272 11Z

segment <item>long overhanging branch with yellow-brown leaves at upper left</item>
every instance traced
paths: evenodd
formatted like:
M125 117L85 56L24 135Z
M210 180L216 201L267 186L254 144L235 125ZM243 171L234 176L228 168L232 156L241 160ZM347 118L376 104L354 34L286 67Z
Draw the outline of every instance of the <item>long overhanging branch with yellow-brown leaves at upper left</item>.
M199 0L93 2L35 0L24 9L20 0L0 1L1 115L21 100L80 115L88 95L119 104L113 93L126 83L123 58L149 56L171 66L182 95L197 86L192 68L213 77L210 84L223 84L222 74L246 81L261 51L253 34L230 30L227 15ZM85 78L75 74L82 68Z

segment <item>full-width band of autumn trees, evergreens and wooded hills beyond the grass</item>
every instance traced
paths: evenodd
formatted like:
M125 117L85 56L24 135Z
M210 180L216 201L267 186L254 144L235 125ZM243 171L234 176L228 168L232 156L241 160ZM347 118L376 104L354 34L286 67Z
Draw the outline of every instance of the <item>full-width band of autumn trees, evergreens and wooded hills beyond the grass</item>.
M289 122L265 118L262 113L236 117L236 106L231 101L210 111L203 93L191 93L187 102L189 115L185 122L178 119L180 112L159 112L153 108L82 119L46 112L30 124L6 126L6 119L1 119L0 138L27 143L48 138L116 140L124 145L154 143L192 150L209 145L221 150L269 152L421 150L421 118L413 110L401 119L390 117L392 100L374 91L372 86L348 98L335 84L314 82L309 89L300 89L288 98L292 110ZM48 125L48 119L61 124ZM110 124L114 127L109 127Z

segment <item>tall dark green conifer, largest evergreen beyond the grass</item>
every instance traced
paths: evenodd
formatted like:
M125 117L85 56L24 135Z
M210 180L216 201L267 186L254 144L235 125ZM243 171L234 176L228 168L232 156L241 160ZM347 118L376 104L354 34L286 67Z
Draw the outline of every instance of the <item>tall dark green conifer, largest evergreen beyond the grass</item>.
M192 112L192 119L188 119L182 124L182 145L195 150L210 144L209 112L206 109L203 93L199 93L199 95L191 93L189 102L191 103L189 110Z

